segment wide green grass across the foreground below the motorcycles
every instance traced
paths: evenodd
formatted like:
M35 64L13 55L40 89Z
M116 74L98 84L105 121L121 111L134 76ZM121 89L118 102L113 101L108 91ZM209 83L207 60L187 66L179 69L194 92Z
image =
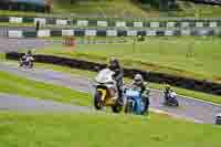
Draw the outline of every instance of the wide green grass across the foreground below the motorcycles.
M218 126L165 115L0 113L2 147L220 147ZM173 129L176 128L176 129Z

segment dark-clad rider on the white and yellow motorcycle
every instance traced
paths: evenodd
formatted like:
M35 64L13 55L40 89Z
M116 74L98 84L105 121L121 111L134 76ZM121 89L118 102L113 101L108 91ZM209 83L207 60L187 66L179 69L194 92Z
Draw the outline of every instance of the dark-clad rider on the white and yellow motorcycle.
M120 66L119 61L115 57L109 60L108 69L115 73L113 78L117 82L117 90L119 93L118 101L123 105L124 69Z

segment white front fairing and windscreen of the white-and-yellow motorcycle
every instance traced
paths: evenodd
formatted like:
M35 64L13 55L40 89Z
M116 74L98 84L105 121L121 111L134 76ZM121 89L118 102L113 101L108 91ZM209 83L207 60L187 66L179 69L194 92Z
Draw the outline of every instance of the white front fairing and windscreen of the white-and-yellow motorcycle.
M114 82L113 76L114 72L112 72L109 69L102 70L97 76L95 77L95 81L97 83L110 83Z

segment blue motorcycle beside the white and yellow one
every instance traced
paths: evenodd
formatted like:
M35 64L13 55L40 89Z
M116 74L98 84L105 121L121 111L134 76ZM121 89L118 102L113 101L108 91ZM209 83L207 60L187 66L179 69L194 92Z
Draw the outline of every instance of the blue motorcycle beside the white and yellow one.
M148 97L144 98L139 91L128 88L125 91L125 97L126 114L144 115L148 111L149 99Z

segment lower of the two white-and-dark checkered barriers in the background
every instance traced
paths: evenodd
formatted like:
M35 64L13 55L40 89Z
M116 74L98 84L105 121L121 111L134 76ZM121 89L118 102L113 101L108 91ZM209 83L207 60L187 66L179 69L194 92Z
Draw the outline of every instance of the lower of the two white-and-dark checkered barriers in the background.
M9 38L63 38L63 36L175 36L175 35L221 35L220 29L182 30L8 30Z

